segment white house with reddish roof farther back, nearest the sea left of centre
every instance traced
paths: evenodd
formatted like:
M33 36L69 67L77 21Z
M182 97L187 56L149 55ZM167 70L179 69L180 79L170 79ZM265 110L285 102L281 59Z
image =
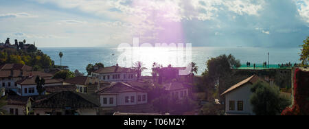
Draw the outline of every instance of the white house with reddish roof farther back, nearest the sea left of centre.
M137 80L137 72L130 68L104 67L91 73L91 76L99 78L104 82L128 82Z

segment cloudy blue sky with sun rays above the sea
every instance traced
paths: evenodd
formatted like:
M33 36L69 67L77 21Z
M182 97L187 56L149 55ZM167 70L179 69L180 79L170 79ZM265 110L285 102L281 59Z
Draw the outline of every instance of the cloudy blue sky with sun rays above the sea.
M0 43L37 47L299 47L309 0L0 0Z

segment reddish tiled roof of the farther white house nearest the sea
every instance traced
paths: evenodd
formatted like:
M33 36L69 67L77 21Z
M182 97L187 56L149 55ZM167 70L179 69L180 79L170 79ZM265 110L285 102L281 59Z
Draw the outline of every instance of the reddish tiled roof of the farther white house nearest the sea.
M133 69L112 66L112 67L104 67L104 68L98 69L94 71L93 73L129 73L129 72L133 72Z

